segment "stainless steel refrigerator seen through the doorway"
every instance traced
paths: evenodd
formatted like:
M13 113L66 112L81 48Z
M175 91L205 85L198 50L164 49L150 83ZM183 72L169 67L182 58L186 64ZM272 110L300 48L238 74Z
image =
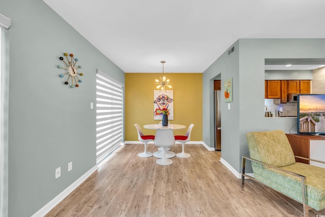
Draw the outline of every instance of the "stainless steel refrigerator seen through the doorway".
M221 90L214 90L214 149L221 150Z

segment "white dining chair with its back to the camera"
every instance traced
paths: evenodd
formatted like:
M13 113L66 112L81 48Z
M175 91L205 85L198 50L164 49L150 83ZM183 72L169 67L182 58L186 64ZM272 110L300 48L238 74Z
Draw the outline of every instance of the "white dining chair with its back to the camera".
M157 129L154 137L154 144L163 148L163 154L160 159L156 161L158 165L171 165L173 161L166 158L166 148L175 144L175 137L172 129Z

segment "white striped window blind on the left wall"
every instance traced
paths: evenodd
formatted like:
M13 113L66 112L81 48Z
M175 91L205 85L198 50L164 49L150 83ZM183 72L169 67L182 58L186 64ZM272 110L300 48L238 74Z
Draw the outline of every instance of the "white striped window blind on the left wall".
M96 74L96 159L100 163L123 142L124 86Z

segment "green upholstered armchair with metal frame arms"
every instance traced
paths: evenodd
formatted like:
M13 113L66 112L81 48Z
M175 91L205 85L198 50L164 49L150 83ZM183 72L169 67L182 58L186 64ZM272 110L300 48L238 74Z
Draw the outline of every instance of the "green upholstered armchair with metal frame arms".
M325 208L325 168L297 163L295 158L301 157L294 156L282 130L251 132L246 138L250 158L243 157L242 188L245 177L261 182L302 203L304 216L311 208ZM245 174L246 160L251 161L254 177Z

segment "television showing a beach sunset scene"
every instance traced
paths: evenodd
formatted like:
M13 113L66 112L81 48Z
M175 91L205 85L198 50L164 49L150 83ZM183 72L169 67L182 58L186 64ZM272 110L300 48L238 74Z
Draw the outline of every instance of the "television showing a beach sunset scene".
M299 94L298 133L325 135L325 94Z

